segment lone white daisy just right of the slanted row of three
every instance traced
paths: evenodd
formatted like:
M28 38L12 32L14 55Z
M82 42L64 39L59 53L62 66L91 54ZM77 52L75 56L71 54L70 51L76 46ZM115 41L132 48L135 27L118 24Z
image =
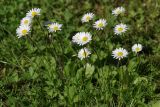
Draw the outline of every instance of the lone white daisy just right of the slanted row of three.
M51 23L48 25L49 32L56 32L58 30L61 30L62 24L58 23Z

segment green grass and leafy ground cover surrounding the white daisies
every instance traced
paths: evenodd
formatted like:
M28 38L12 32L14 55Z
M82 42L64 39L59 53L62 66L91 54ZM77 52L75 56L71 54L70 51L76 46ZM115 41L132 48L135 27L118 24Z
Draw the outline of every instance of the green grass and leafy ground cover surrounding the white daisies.
M126 8L118 19L111 14L117 6ZM34 7L42 9L41 16L34 19L31 35L18 39L20 20ZM1 0L0 106L158 107L159 10L159 0ZM96 17L82 24L86 12ZM92 28L99 18L108 22L103 31ZM45 21L62 23L62 31L49 36L38 24ZM113 32L120 22L129 26L122 37ZM77 58L81 46L71 42L80 31L93 35L86 45L92 54L82 61ZM144 46L138 57L131 52L135 43ZM129 51L119 64L111 56L118 47Z

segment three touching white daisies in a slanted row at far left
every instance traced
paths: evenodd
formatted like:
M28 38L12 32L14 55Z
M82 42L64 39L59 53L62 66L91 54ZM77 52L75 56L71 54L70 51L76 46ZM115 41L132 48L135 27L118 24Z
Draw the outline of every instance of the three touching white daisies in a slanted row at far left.
M20 38L22 36L26 36L30 33L32 19L35 16L39 16L40 11L41 11L41 9L39 9L39 8L33 8L32 10L27 12L27 14L24 18L22 18L20 26L16 30L18 38Z

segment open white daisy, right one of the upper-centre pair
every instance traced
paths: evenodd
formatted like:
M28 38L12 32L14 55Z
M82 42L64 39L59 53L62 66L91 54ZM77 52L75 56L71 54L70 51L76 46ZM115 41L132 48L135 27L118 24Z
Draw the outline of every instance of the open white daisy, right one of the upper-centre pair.
M103 30L106 25L107 22L105 19L99 19L93 24L93 27L96 28L97 30Z

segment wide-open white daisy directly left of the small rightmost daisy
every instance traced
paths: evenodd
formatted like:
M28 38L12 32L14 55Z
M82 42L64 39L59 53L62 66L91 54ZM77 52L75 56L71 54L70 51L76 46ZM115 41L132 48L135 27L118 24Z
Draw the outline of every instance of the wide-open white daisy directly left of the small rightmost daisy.
M121 60L124 57L127 57L128 52L123 48L118 48L112 51L112 56L115 59Z

